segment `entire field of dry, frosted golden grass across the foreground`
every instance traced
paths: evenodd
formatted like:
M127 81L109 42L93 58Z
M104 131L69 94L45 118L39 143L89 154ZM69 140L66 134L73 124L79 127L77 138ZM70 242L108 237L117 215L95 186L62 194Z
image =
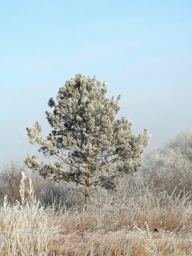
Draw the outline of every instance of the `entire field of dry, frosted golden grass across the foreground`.
M25 197L25 180L23 176L21 203L10 206L5 198L1 208L2 256L192 255L189 195L152 194L138 185L130 196L120 183L118 194L92 198L86 212L55 212L36 201L30 179Z

